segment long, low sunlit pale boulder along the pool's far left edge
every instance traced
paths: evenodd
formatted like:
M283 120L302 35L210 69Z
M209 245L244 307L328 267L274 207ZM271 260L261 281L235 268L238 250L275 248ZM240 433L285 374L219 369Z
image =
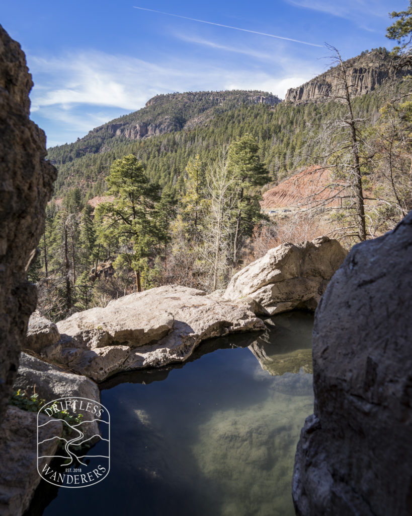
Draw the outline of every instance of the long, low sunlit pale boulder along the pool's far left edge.
M57 360L102 381L121 371L184 361L207 338L259 330L264 324L248 304L168 285L76 313L57 327L62 346Z

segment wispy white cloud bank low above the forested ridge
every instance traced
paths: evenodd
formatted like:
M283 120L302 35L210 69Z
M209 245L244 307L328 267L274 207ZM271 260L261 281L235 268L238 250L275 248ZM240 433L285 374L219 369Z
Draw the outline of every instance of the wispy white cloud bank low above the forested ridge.
M200 42L208 43L233 51L219 43ZM253 50L248 52L256 57ZM76 139L75 134L81 136L124 112L139 109L158 93L259 89L282 98L287 88L306 82L320 71L310 72L286 55L277 59L277 72L275 67L250 71L250 62L231 62L228 66L223 62L216 64L219 63L216 59L176 58L159 65L96 51L51 58L28 56L35 82L30 95L31 111L45 128L48 141L55 144L67 138Z

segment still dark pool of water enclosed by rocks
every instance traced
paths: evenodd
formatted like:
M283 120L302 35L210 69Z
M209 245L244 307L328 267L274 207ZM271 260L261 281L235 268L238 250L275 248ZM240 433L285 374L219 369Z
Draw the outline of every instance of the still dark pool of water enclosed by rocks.
M54 499L32 513L293 515L296 444L313 412L312 327L311 314L290 312L260 334L205 342L177 367L107 381L108 477L82 489L43 486L43 507Z

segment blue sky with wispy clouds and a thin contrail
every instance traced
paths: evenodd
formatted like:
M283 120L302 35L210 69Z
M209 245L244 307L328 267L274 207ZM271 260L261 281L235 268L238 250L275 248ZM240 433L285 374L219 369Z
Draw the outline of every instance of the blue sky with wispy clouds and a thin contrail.
M260 89L284 98L287 88L329 68L325 42L344 58L391 49L388 12L407 4L15 0L3 3L0 23L26 53L35 83L31 118L51 147L143 107L157 93Z

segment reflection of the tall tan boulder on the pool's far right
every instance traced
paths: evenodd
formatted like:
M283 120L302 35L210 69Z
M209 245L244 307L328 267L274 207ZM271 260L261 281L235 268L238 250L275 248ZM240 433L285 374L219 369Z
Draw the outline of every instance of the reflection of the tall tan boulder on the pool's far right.
M272 376L283 375L284 373L312 373L312 349L295 349L289 353L273 353L273 346L265 345L263 342L255 341L249 346L250 351L259 360L262 369Z

